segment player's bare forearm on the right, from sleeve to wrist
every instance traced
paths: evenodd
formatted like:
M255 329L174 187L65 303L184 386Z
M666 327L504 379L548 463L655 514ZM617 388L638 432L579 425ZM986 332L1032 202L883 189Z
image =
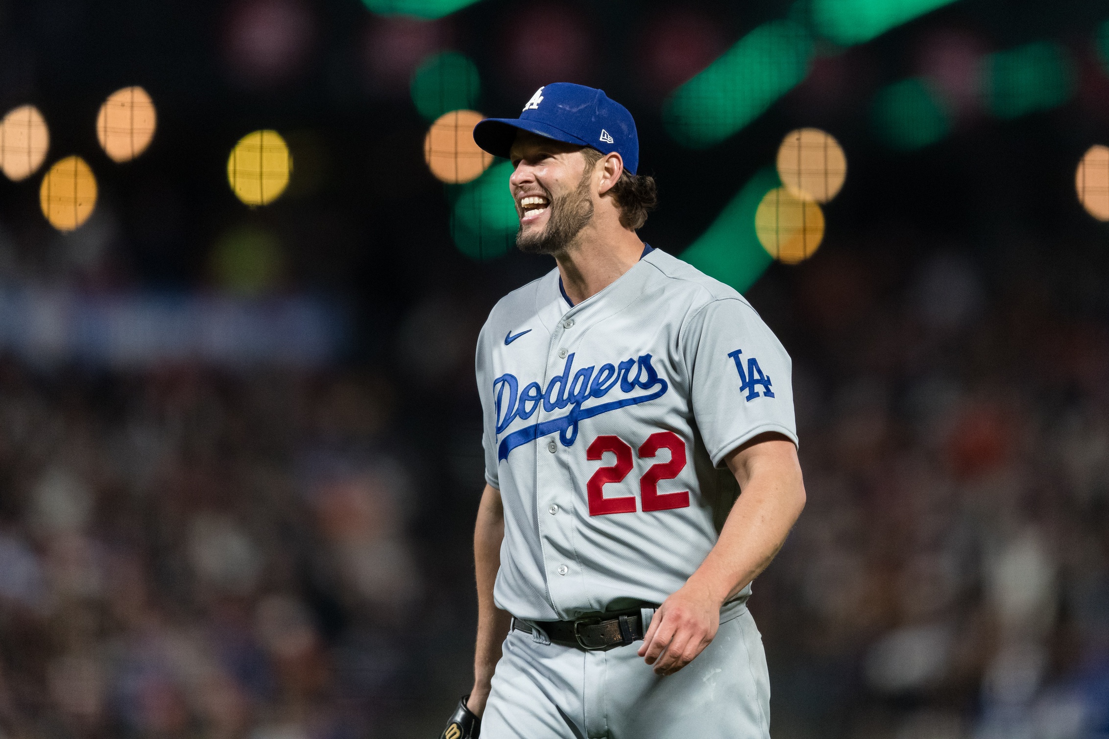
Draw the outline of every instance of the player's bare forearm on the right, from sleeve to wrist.
M716 545L689 579L691 585L708 588L720 603L735 596L766 568L805 506L793 444L770 443L781 445L775 450L780 454L729 458L743 494L732 506Z

